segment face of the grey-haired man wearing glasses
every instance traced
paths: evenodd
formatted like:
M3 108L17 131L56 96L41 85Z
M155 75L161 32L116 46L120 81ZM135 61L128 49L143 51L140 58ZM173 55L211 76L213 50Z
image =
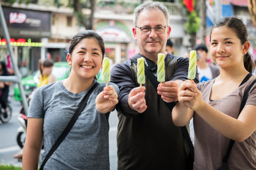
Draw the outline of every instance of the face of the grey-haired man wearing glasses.
M138 15L136 26L138 27L164 27L167 25L166 17L161 10L143 10ZM148 58L157 58L158 53L165 52L166 41L169 38L171 28L165 28L163 34L156 34L154 29L150 34L142 34L140 28L133 28L133 35L138 42L139 52Z

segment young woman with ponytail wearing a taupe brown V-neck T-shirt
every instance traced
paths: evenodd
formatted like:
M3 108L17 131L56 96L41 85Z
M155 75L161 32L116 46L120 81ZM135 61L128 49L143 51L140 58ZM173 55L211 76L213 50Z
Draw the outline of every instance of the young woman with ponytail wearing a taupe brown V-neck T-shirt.
M186 80L178 90L179 103L172 111L175 125L193 117L194 170L217 170L230 139L235 140L228 158L229 170L256 169L256 83L239 115L243 95L256 77L246 25L238 18L222 18L210 33L210 53L220 75L195 84ZM238 116L239 115L239 116Z

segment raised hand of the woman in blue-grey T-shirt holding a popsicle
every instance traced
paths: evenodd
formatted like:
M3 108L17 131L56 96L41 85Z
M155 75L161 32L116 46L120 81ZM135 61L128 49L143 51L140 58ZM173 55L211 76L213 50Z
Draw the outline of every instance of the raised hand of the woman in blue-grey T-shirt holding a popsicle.
M100 113L107 113L115 108L118 103L118 95L112 85L104 87L104 91L97 95L96 108Z

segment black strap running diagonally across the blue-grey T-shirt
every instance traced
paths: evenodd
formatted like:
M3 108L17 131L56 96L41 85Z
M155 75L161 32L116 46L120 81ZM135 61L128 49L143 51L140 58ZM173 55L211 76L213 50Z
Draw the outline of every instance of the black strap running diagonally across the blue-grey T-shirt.
M87 94L84 96L83 100L80 102L76 112L74 113L73 117L71 118L71 120L69 121L67 127L63 130L63 132L61 133L61 135L59 136L59 138L56 140L56 142L54 143L54 145L51 147L51 150L49 151L49 153L46 155L43 163L41 164L41 167L39 170L43 170L44 165L46 164L47 160L51 157L51 155L54 153L54 151L59 147L59 145L61 144L61 142L66 138L66 136L68 135L69 131L72 129L74 123L77 121L77 118L79 117L80 113L82 112L82 110L84 109L84 106L87 102L87 100L89 99L92 91L99 85L100 83L96 82L92 88L87 92Z

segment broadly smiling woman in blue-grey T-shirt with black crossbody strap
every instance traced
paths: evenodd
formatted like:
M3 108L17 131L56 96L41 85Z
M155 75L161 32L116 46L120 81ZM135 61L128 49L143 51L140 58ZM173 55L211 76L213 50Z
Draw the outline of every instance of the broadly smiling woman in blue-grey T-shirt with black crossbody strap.
M43 163L56 140L77 112L79 103L92 93L77 121L59 147L49 157L48 170L109 170L108 117L118 103L119 89L114 83L97 83L105 47L93 30L75 35L69 46L67 79L39 87L28 110L23 170L36 170L44 138ZM94 87L94 88L93 88Z

